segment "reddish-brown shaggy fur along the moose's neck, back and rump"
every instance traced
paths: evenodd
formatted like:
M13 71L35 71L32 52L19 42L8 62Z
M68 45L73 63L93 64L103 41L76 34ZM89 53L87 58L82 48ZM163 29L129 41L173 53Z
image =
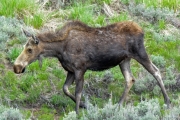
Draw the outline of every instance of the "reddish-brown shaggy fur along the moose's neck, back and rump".
M69 32L71 30L78 30L86 33L91 32L94 34L98 30L112 31L118 34L130 34L130 35L138 35L143 33L142 28L135 22L131 22L131 21L118 22L99 28L90 27L80 21L72 21L72 22L68 22L66 25L64 25L60 30L56 31L55 33L54 32L43 33L43 34L39 34L37 37L40 40L43 40L44 42L61 41L61 40L65 40L68 37Z

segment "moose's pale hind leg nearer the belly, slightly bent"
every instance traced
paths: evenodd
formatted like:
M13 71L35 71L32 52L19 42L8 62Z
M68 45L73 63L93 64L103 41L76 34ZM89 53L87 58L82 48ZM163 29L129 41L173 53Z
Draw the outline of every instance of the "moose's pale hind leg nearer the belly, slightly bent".
M129 90L131 89L135 79L130 70L130 58L125 59L120 65L121 72L126 80L126 86L122 96L120 97L119 104L123 104L124 100L126 99Z

